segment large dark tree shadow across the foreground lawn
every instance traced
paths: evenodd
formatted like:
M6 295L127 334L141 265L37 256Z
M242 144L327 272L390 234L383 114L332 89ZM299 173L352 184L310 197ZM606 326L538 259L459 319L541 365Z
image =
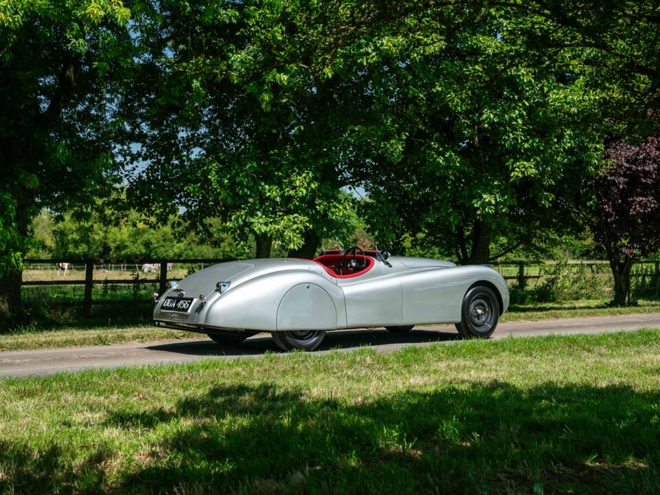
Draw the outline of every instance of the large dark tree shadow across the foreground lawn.
M376 386L377 386L377 382ZM147 450L5 443L3 491L127 493L658 493L660 394L626 386L504 383L401 391L376 401L217 385L165 408L107 412ZM102 460L101 460L102 459ZM117 469L115 467L115 469ZM5 473L7 470L5 469ZM118 478L111 487L107 478ZM8 481L9 480L9 481ZM61 489L67 488L66 490Z

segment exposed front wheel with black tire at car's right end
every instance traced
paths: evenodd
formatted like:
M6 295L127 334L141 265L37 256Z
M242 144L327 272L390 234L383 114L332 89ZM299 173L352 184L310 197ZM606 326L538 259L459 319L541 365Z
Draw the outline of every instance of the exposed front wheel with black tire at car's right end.
M497 327L500 303L489 287L472 287L461 305L461 322L456 329L462 338L489 338Z

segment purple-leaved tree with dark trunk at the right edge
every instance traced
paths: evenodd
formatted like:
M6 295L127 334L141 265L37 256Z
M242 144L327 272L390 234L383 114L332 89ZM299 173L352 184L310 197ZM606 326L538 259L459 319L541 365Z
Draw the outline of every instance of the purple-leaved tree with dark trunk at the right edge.
M611 144L606 158L608 165L593 184L592 230L614 276L613 304L626 305L632 263L660 250L660 139Z

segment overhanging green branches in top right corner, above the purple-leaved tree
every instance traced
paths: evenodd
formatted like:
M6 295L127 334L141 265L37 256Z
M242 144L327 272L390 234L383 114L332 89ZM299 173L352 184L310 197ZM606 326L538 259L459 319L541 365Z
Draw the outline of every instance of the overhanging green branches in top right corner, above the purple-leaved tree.
M660 16L657 1L493 1L520 39L517 55L546 64L564 59L584 72L584 91L602 94L610 133L650 135L660 125Z

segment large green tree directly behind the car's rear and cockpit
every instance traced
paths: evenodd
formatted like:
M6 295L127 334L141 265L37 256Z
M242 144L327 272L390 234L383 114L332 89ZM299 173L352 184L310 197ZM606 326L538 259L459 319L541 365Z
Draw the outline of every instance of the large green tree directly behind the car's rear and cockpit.
M272 239L313 255L347 214L341 188L371 168L362 133L370 152L392 147L380 103L410 55L399 32L452 14L465 19L417 2L157 3L136 21L151 55L126 105L127 156L148 163L134 197L221 217L258 255Z

